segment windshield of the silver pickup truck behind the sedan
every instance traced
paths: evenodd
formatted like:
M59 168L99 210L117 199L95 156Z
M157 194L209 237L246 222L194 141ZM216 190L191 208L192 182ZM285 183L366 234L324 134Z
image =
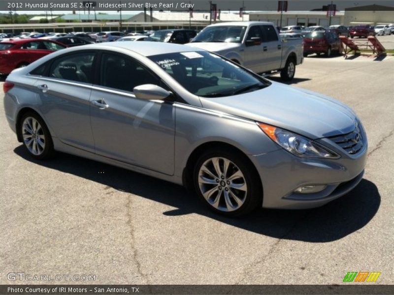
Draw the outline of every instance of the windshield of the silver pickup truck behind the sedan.
M212 26L206 27L192 42L232 42L241 43L245 35L245 26Z

